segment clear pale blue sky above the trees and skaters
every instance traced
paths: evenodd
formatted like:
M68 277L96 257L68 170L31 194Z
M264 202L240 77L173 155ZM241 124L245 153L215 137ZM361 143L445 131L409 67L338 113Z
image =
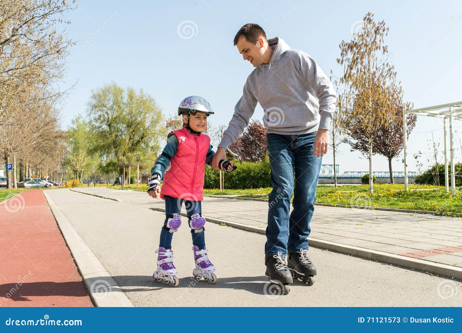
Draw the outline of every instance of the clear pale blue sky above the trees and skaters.
M462 101L461 1L81 0L67 14L67 32L77 45L68 58L63 87L78 83L63 105L62 126L85 113L91 89L110 81L143 88L165 114L175 113L188 95L204 96L215 111L210 121L227 125L253 69L232 43L243 24L260 24L271 31L270 37L283 38L291 48L310 54L324 72L332 69L340 76L339 44L352 38L351 31L367 12L390 29L385 43L405 101L414 107ZM192 30L182 31L185 26ZM254 118L262 117L258 106ZM462 122L455 125L455 156L461 161ZM419 117L409 138L410 171L416 170L414 152L421 151L421 162L428 165L432 133L442 151L442 123ZM358 152L350 152L347 145L340 150L340 172L368 170ZM443 161L442 153L439 157ZM393 161L395 171L403 170L401 159ZM323 164L332 163L329 152ZM374 170L388 171L387 160L375 156Z

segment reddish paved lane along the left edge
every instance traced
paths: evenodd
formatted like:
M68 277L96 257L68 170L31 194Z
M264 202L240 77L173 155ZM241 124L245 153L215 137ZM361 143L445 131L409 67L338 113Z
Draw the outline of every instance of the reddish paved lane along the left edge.
M0 204L0 306L93 306L43 190Z

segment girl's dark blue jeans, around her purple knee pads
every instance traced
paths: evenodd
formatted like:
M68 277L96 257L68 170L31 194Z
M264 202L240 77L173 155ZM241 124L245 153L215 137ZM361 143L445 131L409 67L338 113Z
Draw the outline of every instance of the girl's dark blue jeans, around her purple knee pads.
M164 196L164 199L165 215L181 213L183 199L174 198L173 196ZM188 214L188 217L196 213L202 213L201 203L201 201L184 200L184 206L186 208L186 213ZM167 221L168 219L165 218L164 226L167 225ZM199 249L203 249L205 246L205 227L203 227L202 232L197 233L195 233L194 230L191 229L191 237L193 238L193 245L197 245ZM171 249L172 238L173 232L169 232L162 228L160 230L159 247L163 247L167 250Z

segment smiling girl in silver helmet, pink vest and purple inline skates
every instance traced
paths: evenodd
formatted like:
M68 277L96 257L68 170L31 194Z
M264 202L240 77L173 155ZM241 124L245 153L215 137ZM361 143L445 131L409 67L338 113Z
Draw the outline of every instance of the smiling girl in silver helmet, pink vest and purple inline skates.
M207 117L213 114L208 101L201 96L188 96L178 107L178 115L182 115L181 130L170 132L167 144L151 170L148 180L148 193L158 197L160 180L164 176L164 184L160 197L165 200L165 221L160 231L157 270L152 275L158 282L164 280L179 284L178 270L173 265L171 242L173 233L181 225L181 207L184 201L188 214L188 225L193 238L193 254L195 277L204 277L212 283L217 282L215 266L208 259L205 246L205 222L201 216L203 200L205 164L211 165L214 152L210 145L210 137L202 134L207 128ZM165 171L168 164L171 167ZM235 167L228 161L220 161L227 172Z

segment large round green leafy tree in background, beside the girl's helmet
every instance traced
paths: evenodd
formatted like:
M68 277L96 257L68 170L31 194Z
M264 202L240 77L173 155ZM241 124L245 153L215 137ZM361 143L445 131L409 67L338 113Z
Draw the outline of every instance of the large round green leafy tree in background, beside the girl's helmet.
M160 150L164 117L155 99L143 89L105 84L92 90L87 107L94 150L105 172L121 172L135 161L135 153L150 156Z

